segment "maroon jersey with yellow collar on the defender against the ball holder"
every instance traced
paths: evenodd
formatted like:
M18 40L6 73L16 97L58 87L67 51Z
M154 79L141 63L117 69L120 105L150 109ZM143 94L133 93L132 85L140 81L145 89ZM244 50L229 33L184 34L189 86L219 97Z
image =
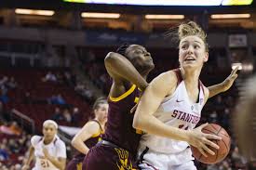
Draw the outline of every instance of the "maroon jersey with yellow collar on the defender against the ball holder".
M132 157L136 156L141 133L132 127L134 113L130 113L130 110L138 102L140 93L136 85L132 85L119 98L109 98L108 121L102 136L102 139L128 150Z

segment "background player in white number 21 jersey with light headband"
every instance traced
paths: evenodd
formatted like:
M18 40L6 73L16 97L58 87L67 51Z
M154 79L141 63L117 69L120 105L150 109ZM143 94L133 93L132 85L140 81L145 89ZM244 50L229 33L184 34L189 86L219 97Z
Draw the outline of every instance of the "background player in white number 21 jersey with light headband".
M29 158L22 170L30 169L30 163L35 157L33 170L64 170L66 165L66 146L57 136L58 124L47 120L43 124L43 137L31 138Z

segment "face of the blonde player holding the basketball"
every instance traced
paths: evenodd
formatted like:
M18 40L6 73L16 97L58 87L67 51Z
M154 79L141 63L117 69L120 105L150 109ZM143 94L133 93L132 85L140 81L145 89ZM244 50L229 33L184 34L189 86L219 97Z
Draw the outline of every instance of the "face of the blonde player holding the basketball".
M209 53L201 38L195 35L182 38L179 46L179 61L182 68L202 68L208 57Z

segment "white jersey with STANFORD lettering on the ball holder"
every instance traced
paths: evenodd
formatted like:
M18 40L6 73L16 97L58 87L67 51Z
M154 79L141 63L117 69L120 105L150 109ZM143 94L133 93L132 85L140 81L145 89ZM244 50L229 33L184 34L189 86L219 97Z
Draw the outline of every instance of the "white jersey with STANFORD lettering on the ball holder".
M190 101L180 70L174 70L178 78L178 85L172 96L165 98L154 116L170 126L190 130L195 128L201 117L205 103L204 87L199 81L199 98L197 103ZM178 153L188 147L184 141L145 134L141 137L140 148L148 147L160 153Z

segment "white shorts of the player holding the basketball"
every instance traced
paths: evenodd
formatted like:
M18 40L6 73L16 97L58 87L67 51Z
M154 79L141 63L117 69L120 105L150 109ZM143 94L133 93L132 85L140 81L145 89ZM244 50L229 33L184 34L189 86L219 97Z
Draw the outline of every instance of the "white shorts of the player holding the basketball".
M160 153L148 150L143 154L144 148L140 148L138 156L139 166L142 170L196 170L194 157L190 148L179 153Z

